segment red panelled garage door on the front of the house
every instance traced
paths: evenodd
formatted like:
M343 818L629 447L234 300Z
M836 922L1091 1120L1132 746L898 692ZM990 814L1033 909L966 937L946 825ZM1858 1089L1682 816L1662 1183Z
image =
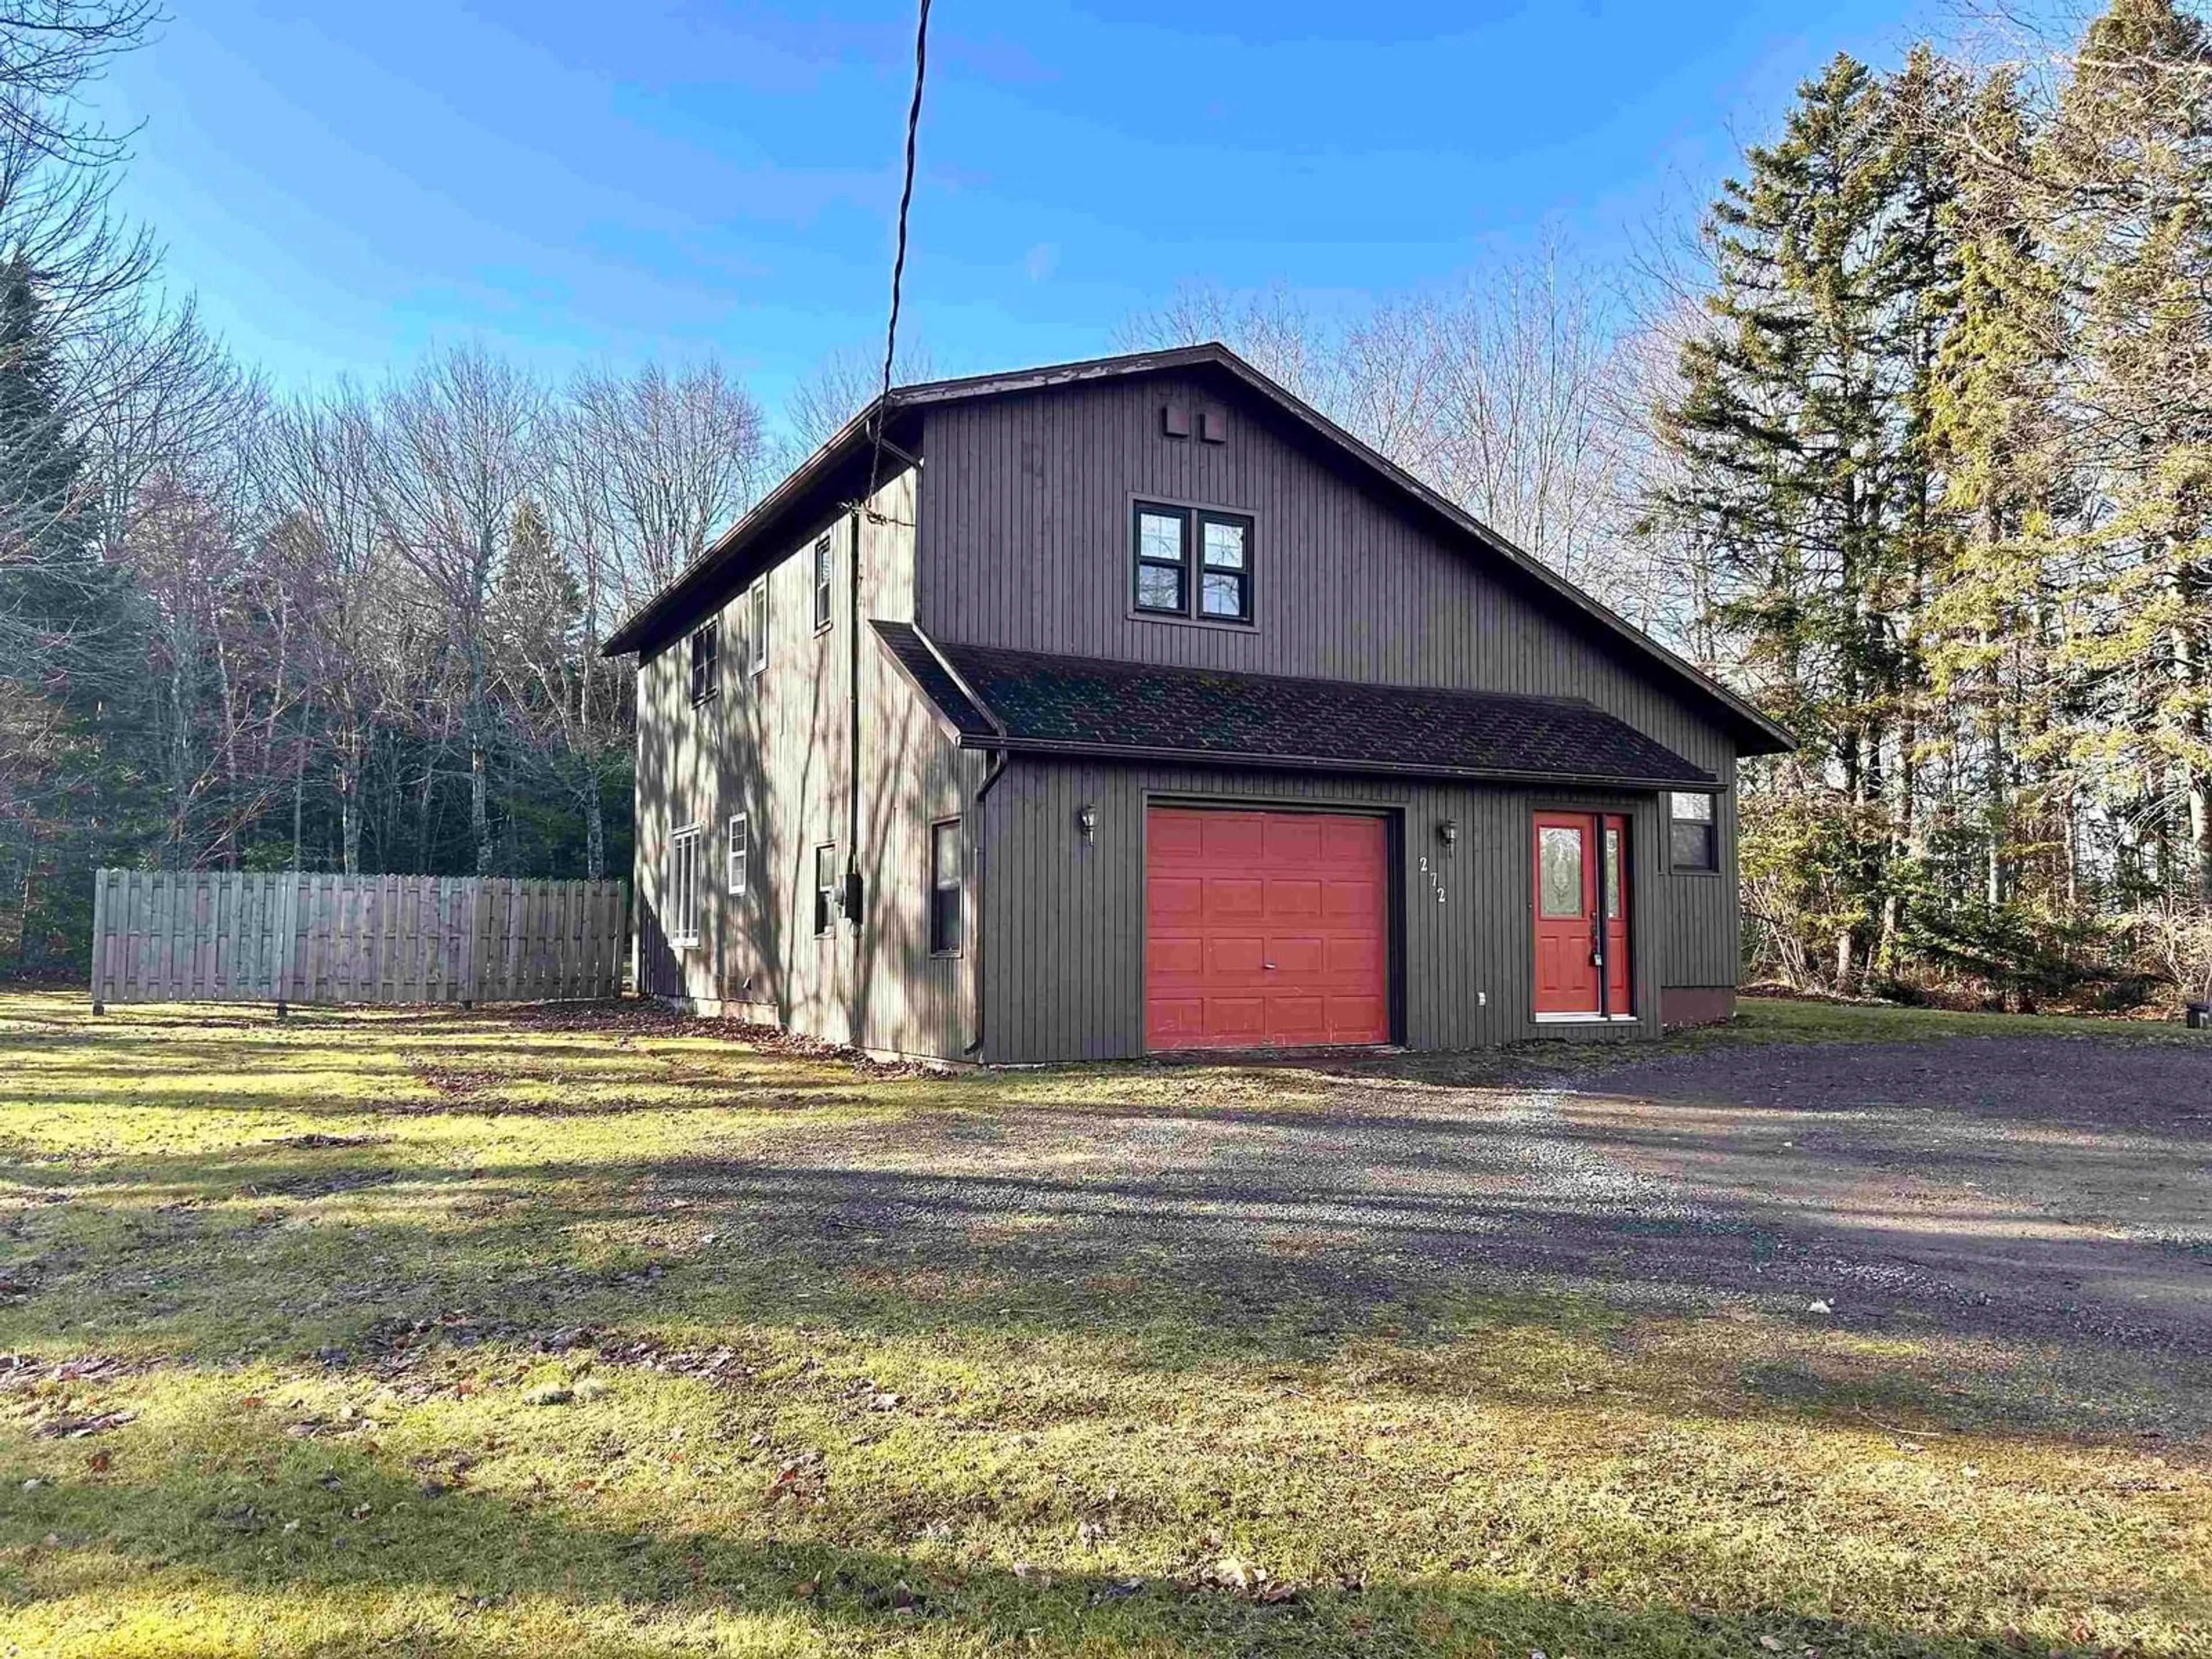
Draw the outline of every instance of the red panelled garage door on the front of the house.
M1146 814L1148 1048L1389 1042L1383 818Z

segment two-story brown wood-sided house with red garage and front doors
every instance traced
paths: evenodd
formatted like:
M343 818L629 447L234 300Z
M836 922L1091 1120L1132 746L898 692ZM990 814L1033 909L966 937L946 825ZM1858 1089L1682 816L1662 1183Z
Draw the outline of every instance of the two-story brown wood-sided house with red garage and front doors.
M902 387L606 648L639 989L942 1060L1723 1018L1790 745L1221 345Z

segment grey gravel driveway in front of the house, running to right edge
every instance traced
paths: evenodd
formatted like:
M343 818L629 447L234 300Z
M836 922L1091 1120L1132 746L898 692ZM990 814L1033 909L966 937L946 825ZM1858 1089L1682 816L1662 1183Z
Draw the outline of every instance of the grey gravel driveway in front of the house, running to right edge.
M1458 1086L1099 1068L714 1164L776 1243L1356 1305L1577 1287L2212 1356L2212 1046L1776 1044ZM1004 1084L980 1079L978 1091ZM686 1177L670 1170L681 1183Z

